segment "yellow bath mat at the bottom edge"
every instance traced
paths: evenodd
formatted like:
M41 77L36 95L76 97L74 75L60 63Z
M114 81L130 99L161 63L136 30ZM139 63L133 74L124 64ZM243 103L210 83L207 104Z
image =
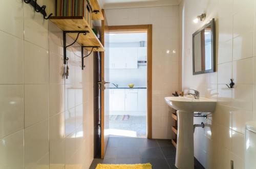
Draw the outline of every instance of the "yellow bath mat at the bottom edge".
M152 169L150 163L146 164L98 164L96 169Z

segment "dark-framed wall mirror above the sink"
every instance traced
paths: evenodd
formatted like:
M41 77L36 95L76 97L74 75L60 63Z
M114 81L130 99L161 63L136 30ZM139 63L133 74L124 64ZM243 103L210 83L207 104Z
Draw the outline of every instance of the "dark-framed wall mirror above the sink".
M215 21L193 34L193 75L215 72Z

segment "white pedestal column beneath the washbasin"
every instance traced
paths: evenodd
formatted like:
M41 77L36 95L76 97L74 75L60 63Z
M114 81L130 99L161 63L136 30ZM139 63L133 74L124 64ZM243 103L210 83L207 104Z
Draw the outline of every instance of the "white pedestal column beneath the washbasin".
M178 134L175 165L180 169L194 169L193 112L178 110Z

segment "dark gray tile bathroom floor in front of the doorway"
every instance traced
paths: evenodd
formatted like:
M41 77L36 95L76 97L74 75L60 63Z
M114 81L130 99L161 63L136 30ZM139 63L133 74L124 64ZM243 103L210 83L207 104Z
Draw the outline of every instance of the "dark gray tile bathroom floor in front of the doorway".
M90 169L98 163L135 164L150 162L153 169L176 169L176 148L170 140L135 137L110 137L104 159L94 159ZM196 164L196 162L195 162ZM197 163L196 169L203 169Z

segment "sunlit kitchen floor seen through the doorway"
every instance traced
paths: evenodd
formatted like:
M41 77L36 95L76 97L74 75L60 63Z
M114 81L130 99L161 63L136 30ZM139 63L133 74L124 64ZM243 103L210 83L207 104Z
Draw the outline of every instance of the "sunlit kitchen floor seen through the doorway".
M131 116L126 115L125 120L123 120L123 116L111 116L110 117L110 129L132 131L133 135L125 135L125 136L134 136L134 137L146 137L146 116ZM111 135L115 134L115 130L111 131Z

